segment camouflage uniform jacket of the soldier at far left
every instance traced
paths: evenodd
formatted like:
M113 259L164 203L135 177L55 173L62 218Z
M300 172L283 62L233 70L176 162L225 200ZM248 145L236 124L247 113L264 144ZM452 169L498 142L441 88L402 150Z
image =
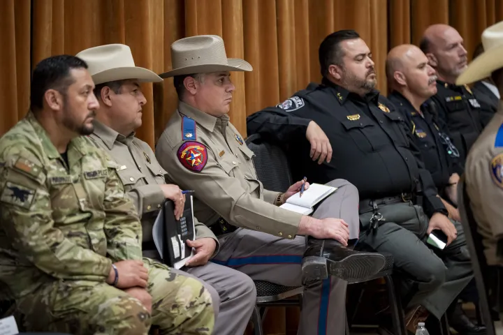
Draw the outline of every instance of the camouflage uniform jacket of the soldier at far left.
M117 164L88 137L66 161L31 112L0 140L0 282L15 298L54 281L104 283L141 260L141 227Z

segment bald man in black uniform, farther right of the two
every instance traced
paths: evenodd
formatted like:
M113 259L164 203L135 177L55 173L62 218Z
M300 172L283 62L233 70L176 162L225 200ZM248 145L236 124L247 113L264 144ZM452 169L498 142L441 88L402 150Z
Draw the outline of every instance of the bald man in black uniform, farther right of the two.
M467 50L463 42L453 27L433 24L425 30L420 45L438 76L437 94L432 100L437 104L439 122L449 128L462 163L483 129L479 99L467 85L455 84L467 68Z

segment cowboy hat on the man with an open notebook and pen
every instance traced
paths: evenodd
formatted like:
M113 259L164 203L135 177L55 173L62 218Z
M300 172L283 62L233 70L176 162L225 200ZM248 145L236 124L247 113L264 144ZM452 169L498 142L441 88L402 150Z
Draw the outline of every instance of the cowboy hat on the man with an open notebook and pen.
M227 58L224 40L216 35L182 38L171 45L173 70L161 77L211 73L219 71L251 71L251 65L242 59Z

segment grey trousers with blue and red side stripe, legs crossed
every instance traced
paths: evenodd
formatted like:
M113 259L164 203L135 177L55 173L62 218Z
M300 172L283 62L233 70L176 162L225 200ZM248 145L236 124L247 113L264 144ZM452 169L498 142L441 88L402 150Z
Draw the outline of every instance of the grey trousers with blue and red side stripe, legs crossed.
M358 190L348 181L328 183L339 189L323 201L315 218L342 218L349 225L350 239L358 238ZM233 267L255 281L286 286L301 286L300 264L305 252L305 237L282 239L264 232L238 229L219 237L220 251L212 260ZM343 335L346 325L347 282L331 277L306 287L298 334Z

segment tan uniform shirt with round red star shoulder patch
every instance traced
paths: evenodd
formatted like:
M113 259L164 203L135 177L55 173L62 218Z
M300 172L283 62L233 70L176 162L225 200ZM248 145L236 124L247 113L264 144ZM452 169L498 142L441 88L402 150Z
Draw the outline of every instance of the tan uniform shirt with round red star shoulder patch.
M196 121L194 134L182 133L184 115ZM182 102L156 146L168 178L196 191L194 211L205 223L222 217L238 227L293 239L302 215L273 204L279 193L263 188L253 155L227 115L212 117Z

